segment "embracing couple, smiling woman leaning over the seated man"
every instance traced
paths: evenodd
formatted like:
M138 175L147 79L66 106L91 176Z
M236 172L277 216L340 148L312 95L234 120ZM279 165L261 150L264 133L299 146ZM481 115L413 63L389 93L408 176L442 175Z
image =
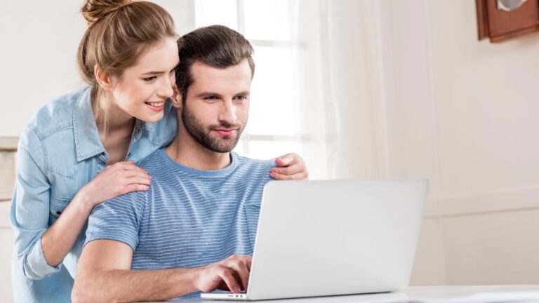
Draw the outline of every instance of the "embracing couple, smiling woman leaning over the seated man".
M231 152L248 118L251 45L221 26L176 41L171 16L145 1L87 1L83 13L91 88L46 105L20 137L15 301L245 290L262 187L307 176L295 154Z

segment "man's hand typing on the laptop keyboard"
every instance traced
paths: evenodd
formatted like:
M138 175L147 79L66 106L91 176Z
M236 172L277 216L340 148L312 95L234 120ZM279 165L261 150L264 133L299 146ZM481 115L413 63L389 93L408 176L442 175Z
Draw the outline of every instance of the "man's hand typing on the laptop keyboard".
M194 286L201 292L219 289L238 293L247 290L251 260L251 256L232 255L202 267L194 280Z

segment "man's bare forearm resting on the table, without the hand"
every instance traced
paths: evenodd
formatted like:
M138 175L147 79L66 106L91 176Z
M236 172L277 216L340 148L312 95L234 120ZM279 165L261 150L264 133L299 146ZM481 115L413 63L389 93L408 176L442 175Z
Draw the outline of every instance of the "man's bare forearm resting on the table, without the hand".
M197 291L199 269L110 270L77 276L73 302L166 300Z

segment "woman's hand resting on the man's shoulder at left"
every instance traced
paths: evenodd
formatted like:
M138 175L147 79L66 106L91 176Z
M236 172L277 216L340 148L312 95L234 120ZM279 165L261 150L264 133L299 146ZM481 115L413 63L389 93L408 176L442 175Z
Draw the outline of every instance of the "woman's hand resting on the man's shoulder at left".
M152 184L145 170L134 161L117 162L101 170L78 194L92 207L131 191L146 191Z

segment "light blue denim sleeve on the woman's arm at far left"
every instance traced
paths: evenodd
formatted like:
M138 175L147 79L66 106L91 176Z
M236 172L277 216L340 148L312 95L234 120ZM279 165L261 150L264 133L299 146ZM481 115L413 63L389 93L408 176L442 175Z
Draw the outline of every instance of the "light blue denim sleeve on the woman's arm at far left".
M46 150L38 134L32 126L26 126L20 136L10 213L15 233L14 261L32 279L55 274L62 266L47 264L41 247L41 236L48 228L51 184L45 173Z

